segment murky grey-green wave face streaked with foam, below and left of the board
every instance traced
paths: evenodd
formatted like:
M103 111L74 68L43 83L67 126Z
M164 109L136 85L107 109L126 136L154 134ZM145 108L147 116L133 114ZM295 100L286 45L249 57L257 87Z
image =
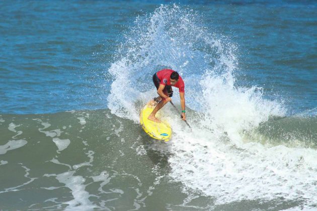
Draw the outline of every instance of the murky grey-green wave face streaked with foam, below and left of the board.
M217 204L171 177L173 140L154 141L109 110L2 115L0 133L9 140L0 146L3 210L276 210L301 203Z

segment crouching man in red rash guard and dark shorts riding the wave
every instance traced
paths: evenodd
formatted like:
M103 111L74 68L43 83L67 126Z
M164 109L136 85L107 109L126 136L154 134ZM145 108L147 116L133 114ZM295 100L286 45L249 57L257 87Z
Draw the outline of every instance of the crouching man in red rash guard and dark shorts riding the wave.
M153 82L157 89L158 97L154 97L156 106L152 113L148 116L148 120L160 123L161 121L155 117L155 114L164 107L164 105L172 101L173 90L172 86L179 88L181 107L182 107L182 120L186 120L185 116L185 84L182 77L178 72L172 69L163 69L153 75Z

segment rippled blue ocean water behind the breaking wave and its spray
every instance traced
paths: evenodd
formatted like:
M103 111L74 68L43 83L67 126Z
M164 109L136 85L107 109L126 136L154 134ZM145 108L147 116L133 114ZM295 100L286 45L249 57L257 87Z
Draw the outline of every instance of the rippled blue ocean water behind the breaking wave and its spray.
M107 70L122 34L160 4L171 3L2 1L1 113L107 108ZM237 85L263 87L267 98L285 101L291 114L316 107L313 1L179 4L237 46Z

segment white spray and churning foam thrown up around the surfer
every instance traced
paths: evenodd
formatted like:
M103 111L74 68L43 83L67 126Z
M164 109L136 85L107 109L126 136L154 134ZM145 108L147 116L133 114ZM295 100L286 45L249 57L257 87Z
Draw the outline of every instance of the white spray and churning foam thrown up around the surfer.
M109 69L115 80L108 107L137 124L140 108L156 94L151 75L172 68L185 81L193 132L167 104L164 117L172 125L173 139L151 147L171 155L171 180L183 183L184 192L214 198L216 205L274 200L301 204L294 209L314 206L317 151L274 146L256 136L255 129L284 117L286 110L282 102L263 97L261 87L237 86L238 62L239 48L204 27L201 15L177 5L161 6L138 17L125 34ZM178 90L173 101L179 105Z

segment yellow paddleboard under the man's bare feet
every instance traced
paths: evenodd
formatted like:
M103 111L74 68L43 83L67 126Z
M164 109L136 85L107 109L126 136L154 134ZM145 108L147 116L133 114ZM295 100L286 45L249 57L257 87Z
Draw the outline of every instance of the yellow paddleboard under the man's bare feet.
M172 138L171 126L167 122L155 123L147 119L155 108L155 104L152 102L152 100L149 101L142 109L140 113L140 124L145 133L153 139L168 142Z

